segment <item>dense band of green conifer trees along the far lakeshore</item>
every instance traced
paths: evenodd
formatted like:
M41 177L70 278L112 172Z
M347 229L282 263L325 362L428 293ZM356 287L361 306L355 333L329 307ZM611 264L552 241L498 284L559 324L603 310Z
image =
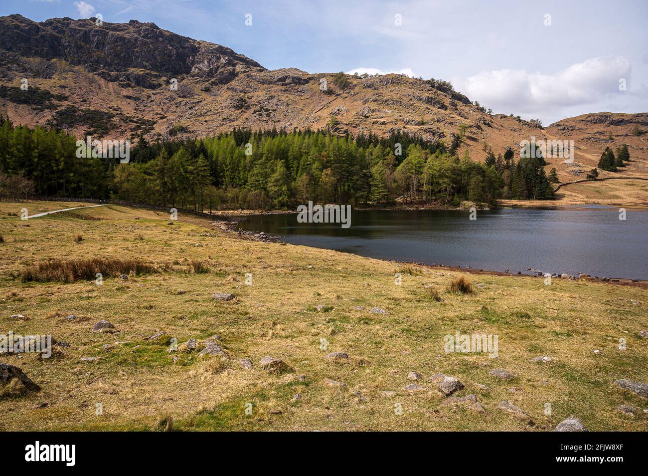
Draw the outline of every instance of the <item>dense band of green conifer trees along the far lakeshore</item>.
M156 143L140 136L130 162L119 163L76 158L76 138L68 132L5 119L0 172L28 180L37 196L114 198L200 211L285 209L308 200L457 206L463 200L494 205L499 198L553 198L544 159L516 162L511 149L498 156L487 150L485 163L479 163L467 150L459 158L457 134L447 142L406 132L379 137L234 128Z

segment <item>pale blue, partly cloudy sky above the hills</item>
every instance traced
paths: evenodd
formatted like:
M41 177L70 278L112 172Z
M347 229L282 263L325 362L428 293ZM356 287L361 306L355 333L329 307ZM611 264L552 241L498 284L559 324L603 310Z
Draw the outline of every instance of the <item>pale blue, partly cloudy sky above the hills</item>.
M14 13L152 21L268 69L434 77L544 125L648 111L647 0L2 0Z

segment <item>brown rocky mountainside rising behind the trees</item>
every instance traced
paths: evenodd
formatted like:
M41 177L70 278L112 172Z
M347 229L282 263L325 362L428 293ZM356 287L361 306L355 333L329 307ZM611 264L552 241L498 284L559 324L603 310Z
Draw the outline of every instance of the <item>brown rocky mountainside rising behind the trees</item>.
M495 154L518 150L532 136L573 140L573 163L548 160L562 181L584 178L605 147L628 143L634 161L614 175L648 176L648 134L641 134L648 113L586 114L540 128L513 115L491 115L443 81L270 71L227 47L154 23L97 23L1 17L0 113L77 136L143 134L149 141L275 126L328 127L335 134L400 129L447 142L463 129L459 154L468 149L476 160L485 157L484 147ZM25 79L27 91L20 88Z

